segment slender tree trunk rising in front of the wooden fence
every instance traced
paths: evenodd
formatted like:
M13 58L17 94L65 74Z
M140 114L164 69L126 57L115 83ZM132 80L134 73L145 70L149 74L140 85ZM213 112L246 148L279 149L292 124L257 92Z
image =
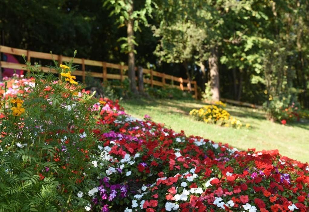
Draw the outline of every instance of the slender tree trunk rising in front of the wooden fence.
M128 9L129 16L133 13L133 0L130 2L130 8ZM130 90L133 93L138 93L136 89L136 80L135 80L135 58L134 58L134 43L132 41L134 37L133 31L133 19L130 18L127 24L127 35L128 35L128 46L129 46L129 54L128 54L128 77L130 82Z

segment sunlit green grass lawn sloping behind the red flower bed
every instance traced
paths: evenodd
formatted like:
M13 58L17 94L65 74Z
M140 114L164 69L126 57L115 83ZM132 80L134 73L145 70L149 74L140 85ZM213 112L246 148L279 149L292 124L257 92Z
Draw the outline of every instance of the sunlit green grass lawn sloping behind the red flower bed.
M251 128L225 128L194 120L189 116L193 108L204 104L189 100L122 100L125 111L137 118L148 114L157 123L164 123L176 132L201 136L215 142L228 143L238 149L278 149L281 155L309 162L309 122L282 125L265 120L265 113L252 108L227 105L231 116Z

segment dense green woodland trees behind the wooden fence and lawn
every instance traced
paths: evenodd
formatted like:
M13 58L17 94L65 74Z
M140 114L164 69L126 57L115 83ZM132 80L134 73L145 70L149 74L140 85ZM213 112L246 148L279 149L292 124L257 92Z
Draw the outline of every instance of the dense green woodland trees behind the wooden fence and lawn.
M0 0L0 11L1 45L129 62L213 99L309 107L307 0Z

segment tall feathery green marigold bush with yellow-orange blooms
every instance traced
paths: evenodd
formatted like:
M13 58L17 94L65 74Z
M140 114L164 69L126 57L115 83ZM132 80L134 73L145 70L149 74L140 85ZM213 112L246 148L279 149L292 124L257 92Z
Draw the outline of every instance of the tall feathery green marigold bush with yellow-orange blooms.
M103 128L93 112L97 100L65 77L57 79L42 73L40 65L27 65L31 78L21 84L19 97L25 111L12 114L16 97L4 98L2 107L0 211L79 210L88 202L76 194L92 183L91 160L97 157L93 130ZM72 61L67 66L74 70ZM50 68L68 72L57 62Z

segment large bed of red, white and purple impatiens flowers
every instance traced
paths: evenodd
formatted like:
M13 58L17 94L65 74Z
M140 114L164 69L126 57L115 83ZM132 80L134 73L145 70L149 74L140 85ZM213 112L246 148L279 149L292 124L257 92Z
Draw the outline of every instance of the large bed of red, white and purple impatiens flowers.
M85 210L308 211L307 163L176 133L102 100L93 111L107 130L94 130L100 154L89 161L97 172L73 193L81 206L89 201Z

